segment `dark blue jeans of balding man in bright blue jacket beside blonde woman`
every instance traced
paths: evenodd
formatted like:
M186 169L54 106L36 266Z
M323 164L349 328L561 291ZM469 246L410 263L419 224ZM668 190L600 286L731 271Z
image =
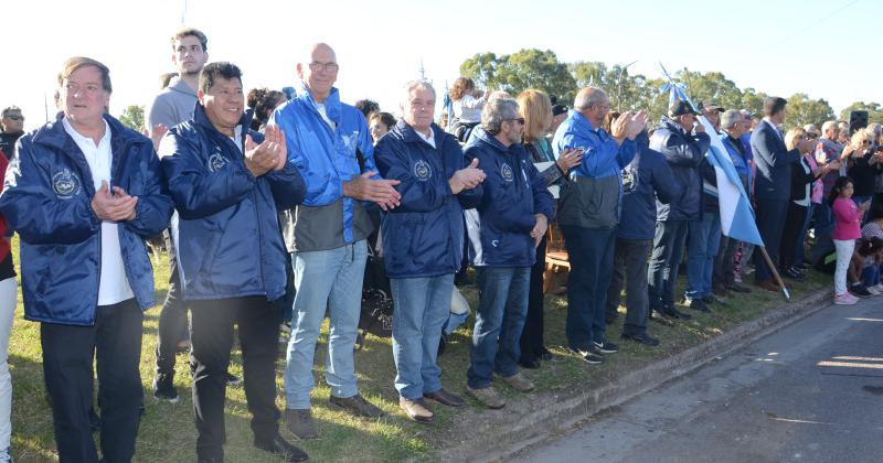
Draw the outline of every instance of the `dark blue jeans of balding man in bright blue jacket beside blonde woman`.
M614 272L616 228L583 228L562 225L571 262L567 274L567 322L571 348L587 349L603 343L607 330L607 289Z

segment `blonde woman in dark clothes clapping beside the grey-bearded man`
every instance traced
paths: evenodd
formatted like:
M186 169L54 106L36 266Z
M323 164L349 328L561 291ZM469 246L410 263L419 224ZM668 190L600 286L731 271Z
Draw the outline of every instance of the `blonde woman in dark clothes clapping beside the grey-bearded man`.
M522 143L532 162L541 164L540 175L546 186L561 181L567 171L583 161L583 154L567 150L555 161L545 134L552 125L552 103L542 90L528 89L518 96L519 116L524 118ZM550 164L551 163L551 164ZM539 165L538 165L539 166ZM553 193L554 195L554 193ZM545 272L545 251L549 234L543 236L536 247L536 262L531 268L528 294L528 316L521 333L521 358L524 368L539 368L540 360L552 360L553 355L543 342L543 273Z

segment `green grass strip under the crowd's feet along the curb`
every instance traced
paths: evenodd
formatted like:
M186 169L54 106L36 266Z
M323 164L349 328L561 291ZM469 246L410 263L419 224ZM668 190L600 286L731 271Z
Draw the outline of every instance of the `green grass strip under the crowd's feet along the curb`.
M13 241L13 254L18 263L18 238ZM168 281L166 257L153 261L157 300L162 301ZM794 299L807 294L823 284L830 284L831 277L810 271L807 281L794 286ZM680 291L680 289L679 289ZM472 287L464 289L464 294L475 310L477 293ZM769 311L783 303L781 297L769 292L754 291L747 297L731 299L727 305L714 305L711 314L693 314L693 320L673 326L651 323L650 333L662 341L658 348L647 348L635 343L621 343L620 353L608 356L602 366L587 366L567 353L564 336L566 300L549 295L545 302L546 344L560 357L558 362L543 365L539 370L528 370L526 375L536 383L540 390L574 390L575 385L594 385L615 379L635 368L648 365L655 359L669 356L694 346L733 326ZM619 308L625 312L624 308ZM21 297L17 308L15 322L10 338L10 368L13 381L12 406L12 452L19 462L56 461L52 431L52 413L45 400L43 387L39 324L22 319ZM138 462L191 462L195 460L196 432L193 426L193 409L190 396L190 374L188 357L180 354L177 362L175 386L181 392L177 405L157 402L152 397L150 381L153 378L157 323L159 306L152 308L145 316L145 335L141 349L141 380L145 388L147 412L141 421L136 450ZM617 340L621 332L621 320L608 327L608 336ZM447 352L439 358L443 368L443 384L449 390L462 394L466 385L466 370L469 365L469 335L474 319L456 332ZM397 394L393 387L395 367L393 365L391 341L369 336L365 347L357 352L355 367L360 390L374 405L387 412L385 418L363 420L351 418L328 407L329 389L325 384L322 362L327 341L327 326L317 347L317 365L313 367L317 387L312 392L313 416L321 439L301 442L299 445L310 454L312 461L336 462L386 462L386 461L432 461L437 460L436 449L450 445L461 439L458 430L460 411L433 407L437 412L435 426L423 426L408 421L397 407ZM277 367L277 405L284 409L284 345L280 345L280 362ZM242 358L234 351L231 370L242 375ZM513 392L508 387L499 390L510 401L530 400L530 395ZM469 407L480 411L474 402ZM252 448L252 432L248 427L249 413L245 395L241 387L227 388L225 446L227 461L266 462L274 461L266 453ZM292 439L280 422L283 435ZM96 434L97 440L97 434Z

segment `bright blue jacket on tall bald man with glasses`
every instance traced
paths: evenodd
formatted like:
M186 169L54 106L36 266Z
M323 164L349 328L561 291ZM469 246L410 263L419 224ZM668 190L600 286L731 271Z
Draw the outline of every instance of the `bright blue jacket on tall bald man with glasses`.
M343 246L363 239L371 233L358 229L359 224L353 224L357 214L364 215L363 205L358 200L343 196L343 182L362 173L357 152L364 159L364 172L377 171L371 132L362 112L341 103L340 93L332 88L323 101L328 118L337 126L332 130L316 105L304 83L298 83L294 98L277 108L268 122L278 125L285 131L288 160L298 169L307 185L301 207L305 211L298 211L295 236L298 250L308 251L330 249L322 246L329 243L328 237L342 234L339 239L331 241L336 246ZM316 209L331 206L338 201L343 203L340 222L320 226L307 224L313 236L302 236L305 224L301 220L309 222L312 216L327 219L327 216L318 215L321 212ZM316 246L319 248L313 248Z

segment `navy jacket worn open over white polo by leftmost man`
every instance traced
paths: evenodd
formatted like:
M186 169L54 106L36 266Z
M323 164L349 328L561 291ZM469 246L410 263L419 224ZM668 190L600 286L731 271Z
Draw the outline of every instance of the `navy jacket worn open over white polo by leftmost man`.
M83 151L65 132L63 114L22 137L7 170L0 213L21 237L24 317L93 325L98 303L102 223L92 209L95 187ZM134 220L120 223L123 265L141 310L156 303L153 267L145 239L169 225L172 202L149 139L109 115L113 186L138 196Z

